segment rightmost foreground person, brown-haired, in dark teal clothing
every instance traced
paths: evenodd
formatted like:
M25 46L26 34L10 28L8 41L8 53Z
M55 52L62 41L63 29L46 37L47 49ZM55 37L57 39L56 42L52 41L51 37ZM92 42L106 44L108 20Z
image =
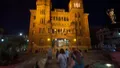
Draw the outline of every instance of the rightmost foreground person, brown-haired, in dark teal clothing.
M81 58L80 52L75 50L72 56L73 60L75 61L75 65L73 68L84 68L83 58Z

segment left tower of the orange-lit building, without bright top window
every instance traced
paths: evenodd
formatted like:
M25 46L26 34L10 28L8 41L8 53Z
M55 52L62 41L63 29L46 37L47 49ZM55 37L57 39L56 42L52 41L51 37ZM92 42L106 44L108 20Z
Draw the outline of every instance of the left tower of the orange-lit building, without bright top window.
M36 10L31 9L30 29L29 29L29 47L28 51L39 49L38 46L49 45L44 43L50 37L47 33L50 28L51 0L37 0ZM44 39L43 39L44 38ZM41 45L40 45L41 44Z

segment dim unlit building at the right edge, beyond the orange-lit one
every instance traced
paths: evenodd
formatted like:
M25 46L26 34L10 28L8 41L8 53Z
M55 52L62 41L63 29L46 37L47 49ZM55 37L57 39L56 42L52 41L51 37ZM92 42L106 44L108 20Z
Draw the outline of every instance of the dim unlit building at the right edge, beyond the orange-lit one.
M98 48L119 47L120 45L120 24L110 24L96 32L99 40Z

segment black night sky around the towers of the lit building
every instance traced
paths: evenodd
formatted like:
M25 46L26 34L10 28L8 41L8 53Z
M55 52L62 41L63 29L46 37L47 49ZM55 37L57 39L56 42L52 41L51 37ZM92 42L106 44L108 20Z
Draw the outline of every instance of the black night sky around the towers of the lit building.
M67 10L69 0L52 0L53 8ZM107 8L115 8L117 21L120 17L119 0L84 0L85 12L89 13L90 26L106 23ZM36 0L0 0L0 27L5 33L27 33L29 29L29 9L36 8Z

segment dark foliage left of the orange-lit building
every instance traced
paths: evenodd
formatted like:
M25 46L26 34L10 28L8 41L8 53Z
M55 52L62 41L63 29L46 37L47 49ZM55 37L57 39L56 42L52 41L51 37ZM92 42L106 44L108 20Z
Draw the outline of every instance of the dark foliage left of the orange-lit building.
M25 44L26 40L23 37L11 37L9 39L5 39L4 42L1 42L0 65L6 65L7 62L17 59L20 52L22 52L21 49L25 47Z

